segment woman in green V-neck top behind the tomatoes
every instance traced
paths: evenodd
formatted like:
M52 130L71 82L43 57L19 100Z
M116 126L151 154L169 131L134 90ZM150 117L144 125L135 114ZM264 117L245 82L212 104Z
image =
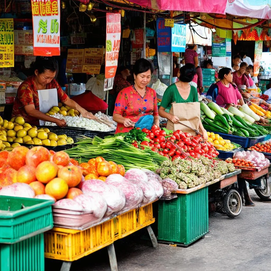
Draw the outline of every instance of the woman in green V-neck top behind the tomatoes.
M166 118L173 123L178 123L179 118L175 115L167 113L166 108L170 109L173 102L186 103L186 102L198 102L198 91L194 86L191 86L189 82L192 81L196 74L195 65L188 63L180 68L179 81L170 85L164 92L160 108L158 110L159 116ZM207 131L203 128L202 123L199 123L199 129L203 134L205 140L208 139Z

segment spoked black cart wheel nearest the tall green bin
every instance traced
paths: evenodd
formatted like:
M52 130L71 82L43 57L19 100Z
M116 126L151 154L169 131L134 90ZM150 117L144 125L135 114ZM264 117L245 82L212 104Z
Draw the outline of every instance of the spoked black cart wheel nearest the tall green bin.
M242 211L242 198L235 189L228 191L223 198L223 211L230 218L235 218Z

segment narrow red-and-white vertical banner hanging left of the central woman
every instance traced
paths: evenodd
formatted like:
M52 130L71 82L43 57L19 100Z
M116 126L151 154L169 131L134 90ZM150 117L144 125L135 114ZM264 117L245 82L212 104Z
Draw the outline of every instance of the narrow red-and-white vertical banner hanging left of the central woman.
M121 36L120 13L106 14L105 78L113 78L118 66Z

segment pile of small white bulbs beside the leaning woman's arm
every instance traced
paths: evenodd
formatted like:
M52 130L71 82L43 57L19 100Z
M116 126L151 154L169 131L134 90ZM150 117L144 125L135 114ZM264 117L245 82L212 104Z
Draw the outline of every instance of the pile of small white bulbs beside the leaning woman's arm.
M86 128L87 130L92 131L101 131L101 132L109 132L113 129L107 126L104 123L99 123L95 120L89 120L88 118L80 117L71 117L71 116L63 116L61 114L56 113L56 115L51 115L53 118L63 119L66 121L67 125L70 127L81 127ZM53 122L45 122L46 126L56 126Z

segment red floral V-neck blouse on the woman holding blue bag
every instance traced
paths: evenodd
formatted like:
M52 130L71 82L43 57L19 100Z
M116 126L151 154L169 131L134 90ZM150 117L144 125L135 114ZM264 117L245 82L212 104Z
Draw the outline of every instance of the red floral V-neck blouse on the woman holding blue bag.
M134 86L122 89L118 93L114 114L120 114L133 122L137 122L144 115L158 116L156 92L152 88L146 87L144 97L141 97ZM133 127L124 127L118 123L116 133L125 133Z

